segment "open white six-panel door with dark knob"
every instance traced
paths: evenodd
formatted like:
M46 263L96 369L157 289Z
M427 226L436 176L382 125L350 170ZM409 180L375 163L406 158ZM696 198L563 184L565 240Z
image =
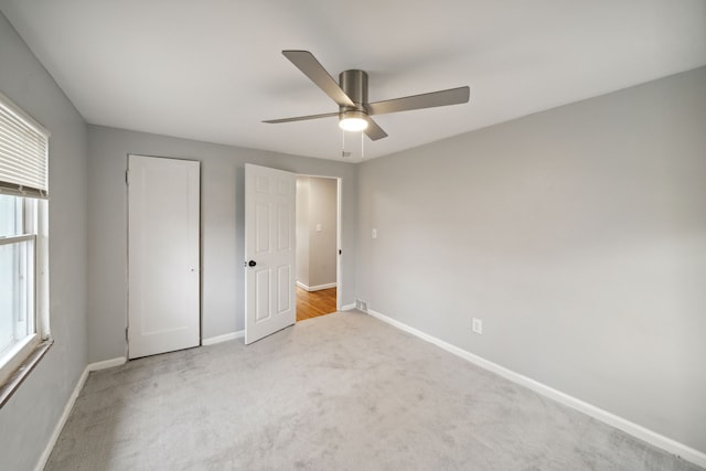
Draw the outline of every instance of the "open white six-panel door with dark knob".
M297 176L245 164L245 343L297 321Z

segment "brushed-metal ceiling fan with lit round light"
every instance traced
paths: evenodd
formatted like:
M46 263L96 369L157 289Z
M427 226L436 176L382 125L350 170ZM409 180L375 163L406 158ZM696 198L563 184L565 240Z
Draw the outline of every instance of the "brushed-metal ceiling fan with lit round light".
M324 113L322 115L270 119L263 122L291 122L338 116L341 129L363 131L371 140L375 141L387 137L387 132L385 132L371 116L408 111L410 109L459 105L468 103L469 100L470 89L466 86L404 98L368 103L367 74L364 71L351 69L341 72L339 83L336 84L333 77L329 75L325 68L323 68L309 51L282 51L282 54L295 64L297 68L303 72L311 82L329 95L329 97L339 105L339 110L336 113Z

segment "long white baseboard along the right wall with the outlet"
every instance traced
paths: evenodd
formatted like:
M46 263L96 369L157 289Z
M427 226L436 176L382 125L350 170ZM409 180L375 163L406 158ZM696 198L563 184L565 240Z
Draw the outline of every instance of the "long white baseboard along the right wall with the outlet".
M447 352L453 353L454 355L458 355L461 358L468 360L469 362L484 370L491 371L506 379L510 379L513 383L525 386L534 390L535 393L538 393L543 396L546 396L550 399L556 400L557 403L564 404L565 406L579 410L590 417L593 417L595 419L598 419L619 430L622 430L625 433L632 435L633 437L637 437L643 441L646 441L648 443L651 443L657 448L668 451L672 454L676 454L677 457L686 461L689 461L694 464L706 468L706 453L702 451L687 447L684 443L680 443L676 440L667 438L645 427L634 424L628 419L624 419L614 414L611 414L608 410L603 410L591 404L585 403L584 400L578 399L574 396L569 396L568 394L554 389L553 387L549 387L543 383L528 378L527 376L523 376L520 373L515 373L512 370L507 370L504 366L490 362L481 356L474 355L463 349L459 349L456 345L451 345L450 343L447 343L440 339L437 339L436 336L424 333L403 322L396 321L395 319L388 318L387 315L384 315L377 311L368 309L367 313L374 318L379 319L383 322L386 322L391 325L396 327L399 330L403 330L413 335L416 335L419 339L426 340L427 342L430 342L446 350Z

